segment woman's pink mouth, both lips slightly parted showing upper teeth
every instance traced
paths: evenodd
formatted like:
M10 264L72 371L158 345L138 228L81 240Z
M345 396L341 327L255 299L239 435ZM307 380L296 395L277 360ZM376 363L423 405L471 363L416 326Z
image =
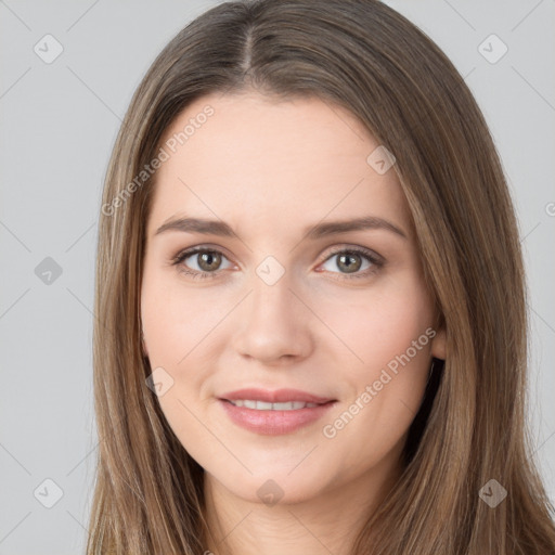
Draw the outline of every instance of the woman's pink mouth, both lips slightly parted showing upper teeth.
M337 402L294 389L242 389L218 401L235 425L264 436L291 434L313 424Z

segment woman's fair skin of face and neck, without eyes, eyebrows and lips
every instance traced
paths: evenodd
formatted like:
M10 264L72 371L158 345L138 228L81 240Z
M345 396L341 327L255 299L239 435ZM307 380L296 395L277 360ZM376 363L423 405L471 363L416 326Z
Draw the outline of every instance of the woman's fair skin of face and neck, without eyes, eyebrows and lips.
M278 103L251 91L210 94L191 104L166 138L208 104L215 114L159 168L147 221L143 349L152 369L173 379L158 399L205 469L206 550L346 554L399 477L431 357L444 359L444 332L436 330L348 425L331 439L323 435L434 327L410 211L395 167L379 175L366 163L378 143L344 108L318 99ZM155 235L185 215L221 219L236 236ZM385 229L317 241L302 233L321 220L364 216L393 223L406 237ZM197 245L222 253L220 266L212 262L219 276L194 280L171 264ZM331 250L357 246L385 263L349 278ZM285 272L273 285L256 272L268 256ZM353 256L364 274L372 262ZM201 263L192 255L181 268L206 271ZM317 423L264 436L236 426L217 400L243 387L296 388L337 403ZM274 505L257 494L269 479L283 491Z

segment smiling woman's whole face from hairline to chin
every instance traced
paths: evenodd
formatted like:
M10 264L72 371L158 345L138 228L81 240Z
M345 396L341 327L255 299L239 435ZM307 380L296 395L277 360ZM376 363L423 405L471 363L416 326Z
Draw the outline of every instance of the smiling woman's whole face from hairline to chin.
M256 93L164 140L141 310L183 447L255 502L397 472L444 334L392 159L341 107Z

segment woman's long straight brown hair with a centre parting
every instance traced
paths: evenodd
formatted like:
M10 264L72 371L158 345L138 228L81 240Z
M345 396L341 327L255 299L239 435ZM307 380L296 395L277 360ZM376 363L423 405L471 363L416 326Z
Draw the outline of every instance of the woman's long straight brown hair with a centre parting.
M553 506L526 426L522 261L499 155L452 63L376 0L219 4L169 42L135 91L99 222L88 555L206 550L203 469L145 383L140 289L156 173L144 167L193 100L247 89L346 107L393 153L447 330L447 360L411 427L404 472L352 553L552 555ZM495 507L482 494L492 486L506 491Z

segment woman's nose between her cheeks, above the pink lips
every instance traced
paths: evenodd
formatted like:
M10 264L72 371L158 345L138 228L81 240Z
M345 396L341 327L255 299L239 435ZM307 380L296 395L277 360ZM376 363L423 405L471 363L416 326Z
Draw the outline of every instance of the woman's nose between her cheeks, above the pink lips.
M299 299L289 273L272 284L254 272L249 293L235 315L234 348L242 357L271 365L310 354L314 315L307 308L310 304Z

